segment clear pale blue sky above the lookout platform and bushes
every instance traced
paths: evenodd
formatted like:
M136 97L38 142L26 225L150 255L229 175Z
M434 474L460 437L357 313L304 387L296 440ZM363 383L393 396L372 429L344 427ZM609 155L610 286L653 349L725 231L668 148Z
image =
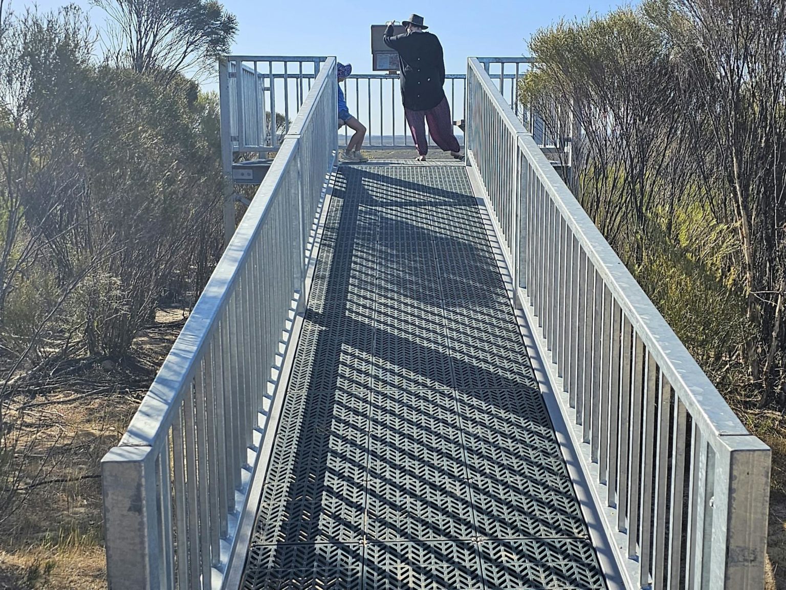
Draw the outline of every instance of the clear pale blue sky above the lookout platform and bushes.
M39 9L63 6L64 0L12 0L13 8L37 3ZM100 9L89 0L76 4L90 10L100 25ZM251 55L335 55L355 72L371 72L370 27L387 20L420 14L445 49L446 71L466 71L468 56L521 56L527 39L539 27L561 17L605 13L626 2L610 0L418 0L418 2L358 2L358 0L224 0L239 24L233 53Z

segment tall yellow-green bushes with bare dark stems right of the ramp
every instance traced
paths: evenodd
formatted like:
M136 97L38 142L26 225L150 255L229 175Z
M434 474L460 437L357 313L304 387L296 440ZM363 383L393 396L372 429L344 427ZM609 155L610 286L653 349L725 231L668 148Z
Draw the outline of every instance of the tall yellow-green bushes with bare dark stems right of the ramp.
M571 190L719 389L786 407L786 9L652 0L531 40ZM776 395L777 393L777 395Z

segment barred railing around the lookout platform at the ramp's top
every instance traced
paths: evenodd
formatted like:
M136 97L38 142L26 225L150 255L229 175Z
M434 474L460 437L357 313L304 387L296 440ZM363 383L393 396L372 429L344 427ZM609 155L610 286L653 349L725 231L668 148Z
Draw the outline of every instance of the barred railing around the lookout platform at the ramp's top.
M222 114L228 116L230 149L233 153L275 153L292 124L292 113L300 105L319 74L326 57L285 57L230 55L223 57L219 68ZM542 146L560 142L550 137L542 119L519 101L520 80L530 71L530 57L479 57L495 85L505 96L516 115L534 133ZM445 95L454 121L464 120L466 75L445 76ZM347 107L365 125L368 132L364 149L396 149L414 146L406 124L398 74L364 74L354 72L342 83ZM275 114L271 114L275 113ZM457 138L464 143L463 132L455 127ZM343 127L337 132L340 145L346 146L353 131ZM430 140L430 138L429 138ZM431 142L431 140L430 140ZM431 142L433 145L433 142Z

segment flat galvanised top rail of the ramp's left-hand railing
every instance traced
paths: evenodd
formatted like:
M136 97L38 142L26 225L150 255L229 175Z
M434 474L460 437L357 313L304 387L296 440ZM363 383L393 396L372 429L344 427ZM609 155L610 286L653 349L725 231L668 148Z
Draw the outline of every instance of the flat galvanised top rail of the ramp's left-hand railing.
M328 58L330 59L335 60ZM332 65L332 61L329 61L329 65ZM303 102L308 108L300 109L290 133L281 142L281 148L270 165L270 171L259 185L248 211L216 264L208 284L196 301L118 446L159 447L166 440L165 435L178 408L178 396L196 374L196 368L201 362L199 352L215 334L219 311L228 304L232 288L240 277L244 260L248 256L248 245L270 214L271 199L284 178L282 173L295 157L299 135L292 131L297 129L299 133L307 124L313 112L315 98L327 83L331 71L331 67L321 68L317 81Z

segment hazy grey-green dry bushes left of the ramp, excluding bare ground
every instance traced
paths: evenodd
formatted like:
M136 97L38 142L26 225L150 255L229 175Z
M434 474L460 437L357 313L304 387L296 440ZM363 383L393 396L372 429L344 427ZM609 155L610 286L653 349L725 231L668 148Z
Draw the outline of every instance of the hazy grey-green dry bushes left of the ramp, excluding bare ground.
M93 49L79 9L0 3L0 525L72 477L57 475L68 421L51 430L36 398L101 396L80 378L107 357L122 367L161 301L195 300L222 248L215 97L97 65ZM148 364L127 370L149 379Z

